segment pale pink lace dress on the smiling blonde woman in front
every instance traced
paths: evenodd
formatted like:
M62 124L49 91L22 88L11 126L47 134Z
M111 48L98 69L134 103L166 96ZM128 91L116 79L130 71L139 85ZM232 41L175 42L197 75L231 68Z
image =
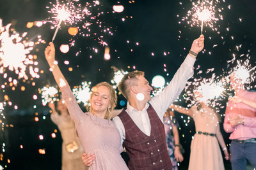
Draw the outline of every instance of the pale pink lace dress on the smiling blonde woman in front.
M62 87L61 92L70 116L76 124L84 152L95 154L95 160L89 169L128 170L120 155L121 137L115 124L111 120L97 117L92 113L84 113L77 104L70 87Z

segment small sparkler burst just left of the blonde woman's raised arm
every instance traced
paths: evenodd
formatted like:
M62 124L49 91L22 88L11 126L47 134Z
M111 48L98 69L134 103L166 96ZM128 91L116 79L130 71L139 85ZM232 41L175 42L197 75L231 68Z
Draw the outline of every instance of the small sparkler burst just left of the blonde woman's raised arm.
M55 87L43 87L42 89L38 89L38 92L42 94L42 104L44 106L58 99L58 90Z

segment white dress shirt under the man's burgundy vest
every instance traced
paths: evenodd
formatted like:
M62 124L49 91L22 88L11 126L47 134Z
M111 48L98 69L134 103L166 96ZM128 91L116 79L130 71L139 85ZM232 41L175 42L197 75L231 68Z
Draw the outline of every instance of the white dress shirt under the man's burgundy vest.
M193 76L193 66L195 63L195 58L188 55L184 62L179 67L178 71L170 81L169 85L164 88L158 96L152 97L152 99L146 104L145 108L142 111L138 111L133 108L129 102L127 102L127 109L125 110L129 116L132 118L133 122L139 127L139 129L145 133L147 136L150 136L150 120L148 117L147 109L149 104L154 108L158 117L163 122L163 116L169 106L177 99L180 95L186 83L191 76ZM116 125L116 128L120 132L121 144L123 144L125 139L125 129L124 124L119 117L113 118L113 122ZM121 145L122 146L122 145Z

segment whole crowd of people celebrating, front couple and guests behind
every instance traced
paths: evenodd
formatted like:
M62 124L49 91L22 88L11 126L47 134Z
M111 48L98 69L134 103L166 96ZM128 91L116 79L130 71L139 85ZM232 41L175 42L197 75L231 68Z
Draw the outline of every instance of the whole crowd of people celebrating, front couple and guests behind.
M236 75L230 77L236 96L227 103L223 123L224 130L231 133L231 154L220 131L221 118L215 108L200 100L201 94L195 92L195 100L200 104L189 109L172 104L193 76L196 57L203 48L204 36L201 35L193 41L186 59L159 95L150 96L152 87L143 71L132 71L118 84L118 90L127 99L124 109L114 110L115 89L101 82L93 87L88 112L84 113L55 62L54 44L49 43L45 58L63 99L58 103L61 115L49 104L52 122L58 125L63 138L62 169L178 169L177 163L184 157L173 110L195 122L189 170L225 169L221 150L225 159L231 160L232 169L245 169L247 160L256 167L256 92L245 90ZM72 137L67 138L66 134L71 133ZM129 156L127 162L120 155L124 150ZM68 157L70 160L66 160Z

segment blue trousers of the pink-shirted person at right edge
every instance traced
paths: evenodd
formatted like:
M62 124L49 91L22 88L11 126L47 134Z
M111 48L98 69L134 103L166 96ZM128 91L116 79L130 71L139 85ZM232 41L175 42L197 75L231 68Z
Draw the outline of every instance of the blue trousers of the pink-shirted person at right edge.
M230 153L232 170L245 170L247 160L256 168L256 143L232 141Z

